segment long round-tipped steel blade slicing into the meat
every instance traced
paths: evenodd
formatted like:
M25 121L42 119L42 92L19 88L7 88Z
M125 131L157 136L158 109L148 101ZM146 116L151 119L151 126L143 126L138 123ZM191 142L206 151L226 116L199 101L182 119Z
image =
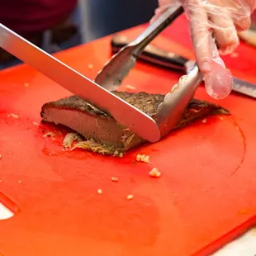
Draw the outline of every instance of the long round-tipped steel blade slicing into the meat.
M0 47L59 83L69 92L99 107L145 140L156 142L160 139L159 126L153 118L71 69L59 59L55 59L1 23Z

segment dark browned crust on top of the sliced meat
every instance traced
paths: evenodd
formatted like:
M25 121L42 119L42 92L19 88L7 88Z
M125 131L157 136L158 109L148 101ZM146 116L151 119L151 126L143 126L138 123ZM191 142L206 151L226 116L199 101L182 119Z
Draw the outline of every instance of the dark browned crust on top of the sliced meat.
M130 105L137 107L140 111L145 112L147 115L154 118L159 104L164 102L163 94L149 94L146 92L113 92L117 97L120 97L122 100L130 103ZM97 116L107 116L104 112L98 110L96 107L93 107L88 102L85 102L83 99L77 96L66 97L59 99L55 102L48 102L42 107L41 117L44 114L45 107L56 107L62 109L76 110L76 111L85 111ZM199 112L203 109L207 111L222 111L223 113L228 113L222 107L209 102L203 102L197 99L192 99L189 103L187 110L184 113L183 120L191 119L192 116L198 116ZM211 113L210 113L211 114ZM213 113L214 114L214 113ZM198 116L200 117L200 116ZM182 122L181 121L181 122Z

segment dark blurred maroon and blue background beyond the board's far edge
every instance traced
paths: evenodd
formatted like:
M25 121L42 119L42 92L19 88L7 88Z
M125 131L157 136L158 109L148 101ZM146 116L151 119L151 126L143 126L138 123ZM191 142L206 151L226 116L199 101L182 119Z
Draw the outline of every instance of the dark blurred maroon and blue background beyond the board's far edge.
M158 0L0 0L0 22L53 54L150 20ZM0 48L0 69L21 61Z

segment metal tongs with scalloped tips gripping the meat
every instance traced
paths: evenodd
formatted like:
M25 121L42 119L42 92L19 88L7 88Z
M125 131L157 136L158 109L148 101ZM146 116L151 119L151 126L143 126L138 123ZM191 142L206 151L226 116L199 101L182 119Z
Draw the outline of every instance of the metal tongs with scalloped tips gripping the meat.
M115 91L135 66L136 59L149 45L151 40L170 25L183 13L183 7L170 7L156 21L154 21L143 33L130 44L124 46L116 55L104 65L97 73L94 82L109 91ZM165 95L164 102L158 107L156 122L159 126L161 137L167 135L170 130L180 121L188 103L192 100L197 87L202 81L202 74L197 64L192 62L190 71L183 75L170 92ZM146 129L141 127L141 129Z

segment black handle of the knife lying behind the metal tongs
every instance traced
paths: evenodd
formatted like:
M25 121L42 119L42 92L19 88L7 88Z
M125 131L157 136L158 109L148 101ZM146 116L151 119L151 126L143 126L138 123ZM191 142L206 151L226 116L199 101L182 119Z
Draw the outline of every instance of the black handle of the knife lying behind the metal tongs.
M122 47L128 45L130 41L131 40L129 40L126 36L113 36L111 40L111 50L116 53ZM150 64L156 64L161 67L183 73L186 73L186 64L189 61L189 59L186 59L183 56L176 55L166 50L161 50L153 45L147 45L138 59L145 60Z

